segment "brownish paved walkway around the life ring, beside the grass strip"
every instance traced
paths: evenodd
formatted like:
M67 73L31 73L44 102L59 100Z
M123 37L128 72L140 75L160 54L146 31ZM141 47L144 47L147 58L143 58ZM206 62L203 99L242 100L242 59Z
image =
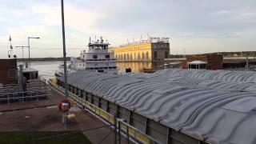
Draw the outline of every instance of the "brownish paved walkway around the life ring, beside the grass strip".
M51 91L50 101L22 102L0 105L0 131L62 131L62 113L58 111L57 104L62 99L54 90ZM76 115L76 120L66 126L66 130L90 129L106 124L84 110L70 112ZM109 134L110 128L90 130L84 132L93 143L98 143ZM102 143L114 143L114 134ZM122 137L122 143L127 143ZM131 143L131 142L130 142Z

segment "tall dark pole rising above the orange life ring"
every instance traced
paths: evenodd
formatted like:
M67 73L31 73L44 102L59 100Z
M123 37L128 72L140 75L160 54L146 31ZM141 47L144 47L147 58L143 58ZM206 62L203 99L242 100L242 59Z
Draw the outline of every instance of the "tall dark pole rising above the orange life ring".
M62 41L63 41L63 59L64 59L64 88L65 97L68 97L67 93L67 77L66 77L66 42L65 42L65 23L64 23L64 3L62 1Z

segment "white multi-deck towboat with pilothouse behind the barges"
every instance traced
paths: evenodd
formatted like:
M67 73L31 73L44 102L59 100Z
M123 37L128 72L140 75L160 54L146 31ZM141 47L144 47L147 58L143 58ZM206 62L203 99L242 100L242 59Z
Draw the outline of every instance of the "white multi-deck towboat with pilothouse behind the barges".
M94 70L118 74L114 53L109 52L109 43L102 37L94 42L89 40L88 49L82 50L80 58L70 59L70 72L78 70ZM69 72L69 70L67 70Z

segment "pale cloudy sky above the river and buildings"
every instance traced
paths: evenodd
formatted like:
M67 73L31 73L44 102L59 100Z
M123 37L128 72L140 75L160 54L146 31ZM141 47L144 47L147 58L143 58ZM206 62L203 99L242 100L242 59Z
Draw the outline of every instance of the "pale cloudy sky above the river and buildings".
M77 56L91 36L111 46L170 38L171 54L256 50L255 0L64 0L67 55ZM38 57L62 57L60 0L8 0L0 5L0 58L13 46ZM27 56L28 51L25 51ZM14 48L22 57L22 50Z

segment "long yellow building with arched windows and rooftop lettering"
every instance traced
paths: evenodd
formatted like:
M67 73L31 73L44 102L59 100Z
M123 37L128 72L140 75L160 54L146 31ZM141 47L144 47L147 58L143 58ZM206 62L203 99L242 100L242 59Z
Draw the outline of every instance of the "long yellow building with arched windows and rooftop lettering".
M132 42L124 46L111 47L118 61L157 62L168 58L170 54L169 38L149 38L141 42Z

